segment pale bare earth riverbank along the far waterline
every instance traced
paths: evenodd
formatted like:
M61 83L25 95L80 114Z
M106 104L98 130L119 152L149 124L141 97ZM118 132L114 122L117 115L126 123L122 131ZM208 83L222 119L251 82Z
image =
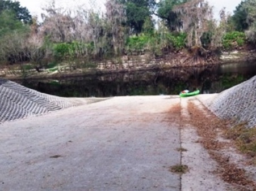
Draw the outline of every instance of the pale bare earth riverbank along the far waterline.
M5 67L0 70L0 77L16 79L58 79L74 76L102 75L113 72L135 72L150 70L170 70L172 68L205 67L216 66L226 63L252 62L256 60L255 50L237 50L221 53L219 59L205 59L202 64L192 64L186 62L188 53L179 51L178 53L169 53L161 58L155 58L152 55L124 56L111 59L106 62L98 63L61 63L53 64L51 68L42 68L38 72L31 69L31 64L24 64L23 70L20 66Z

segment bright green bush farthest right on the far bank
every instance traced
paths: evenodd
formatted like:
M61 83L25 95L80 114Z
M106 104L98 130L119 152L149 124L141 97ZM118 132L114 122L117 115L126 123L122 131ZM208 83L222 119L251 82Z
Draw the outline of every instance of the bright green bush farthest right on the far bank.
M244 32L228 32L223 37L223 48L224 49L235 49L245 45L246 36Z

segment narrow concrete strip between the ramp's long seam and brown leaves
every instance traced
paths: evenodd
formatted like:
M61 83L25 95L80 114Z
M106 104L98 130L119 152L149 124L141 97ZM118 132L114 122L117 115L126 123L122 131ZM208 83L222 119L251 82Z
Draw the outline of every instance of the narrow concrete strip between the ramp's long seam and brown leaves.
M214 95L205 95L211 98ZM203 99L203 95L200 96ZM205 98L204 97L204 98ZM181 99L181 117L189 120L188 101L193 101L198 107L202 104L198 101L199 96ZM223 182L220 177L213 173L217 168L217 163L213 160L208 151L198 142L200 137L196 128L183 120L181 129L181 146L187 151L182 153L182 163L186 164L190 171L182 175L181 185L183 191L215 191L215 190L232 190L230 186Z

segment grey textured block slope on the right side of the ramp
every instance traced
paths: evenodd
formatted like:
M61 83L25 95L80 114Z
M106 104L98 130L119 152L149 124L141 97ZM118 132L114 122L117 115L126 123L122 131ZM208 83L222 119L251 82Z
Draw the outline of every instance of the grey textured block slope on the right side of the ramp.
M221 92L205 105L221 119L256 127L256 76Z

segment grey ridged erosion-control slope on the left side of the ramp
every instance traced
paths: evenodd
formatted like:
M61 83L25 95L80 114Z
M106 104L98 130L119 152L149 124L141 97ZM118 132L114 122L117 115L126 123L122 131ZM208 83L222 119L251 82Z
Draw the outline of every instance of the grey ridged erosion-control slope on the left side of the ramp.
M36 92L9 80L0 79L0 123L77 106L68 98Z

